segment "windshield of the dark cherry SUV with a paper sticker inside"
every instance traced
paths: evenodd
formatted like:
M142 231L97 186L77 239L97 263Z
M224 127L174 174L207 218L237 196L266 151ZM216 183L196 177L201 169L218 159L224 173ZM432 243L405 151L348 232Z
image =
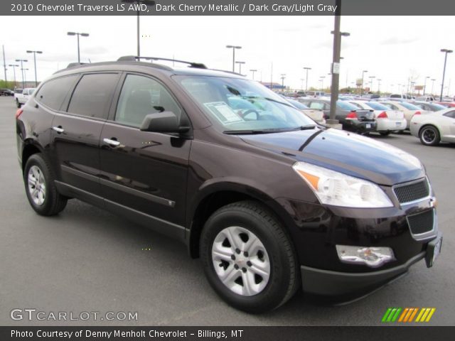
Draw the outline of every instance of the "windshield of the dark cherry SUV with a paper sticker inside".
M225 132L273 132L315 124L285 99L251 80L176 76L183 89Z

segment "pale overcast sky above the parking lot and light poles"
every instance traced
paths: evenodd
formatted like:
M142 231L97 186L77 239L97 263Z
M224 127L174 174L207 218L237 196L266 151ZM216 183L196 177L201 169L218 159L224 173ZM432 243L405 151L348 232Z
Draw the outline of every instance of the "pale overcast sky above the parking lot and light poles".
M33 80L33 55L26 50L42 50L37 55L38 80L77 61L75 36L67 31L90 33L80 38L81 61L92 63L116 60L121 55L136 54L135 16L0 16L0 44L5 47L6 65L15 59L28 59L27 80ZM436 79L439 93L444 65L441 48L455 49L453 16L343 16L341 31L349 32L341 45L341 87L365 73L365 82L373 79L373 90L397 92L405 89L408 77L416 85L424 78ZM176 58L205 63L215 69L232 70L232 50L225 45L241 45L236 60L245 61L242 73L257 69L256 80L269 82L273 62L273 80L300 89L309 71L309 87L324 87L331 82L333 16L142 16L141 55ZM13 69L8 67L8 79ZM236 65L238 72L238 66ZM455 54L449 55L445 86L455 92ZM16 79L20 80L16 69ZM1 70L0 78L4 78ZM427 92L432 90L427 80ZM305 81L303 81L305 87ZM393 87L392 87L393 85Z

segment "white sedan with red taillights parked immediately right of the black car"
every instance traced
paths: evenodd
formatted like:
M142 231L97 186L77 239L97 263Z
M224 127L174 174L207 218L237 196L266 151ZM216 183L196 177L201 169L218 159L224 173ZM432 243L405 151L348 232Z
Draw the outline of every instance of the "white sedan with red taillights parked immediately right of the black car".
M365 101L346 101L355 105L359 109L373 109L376 119L376 131L383 136L387 136L392 131L400 131L406 129L405 114L400 110L390 109L384 104L378 102Z

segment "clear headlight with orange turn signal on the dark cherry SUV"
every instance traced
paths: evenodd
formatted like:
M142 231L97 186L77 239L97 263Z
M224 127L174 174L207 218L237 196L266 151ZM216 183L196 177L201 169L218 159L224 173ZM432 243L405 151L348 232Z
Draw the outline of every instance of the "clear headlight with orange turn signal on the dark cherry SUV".
M392 207L389 197L370 181L311 163L296 162L294 171L309 184L321 203L343 207Z

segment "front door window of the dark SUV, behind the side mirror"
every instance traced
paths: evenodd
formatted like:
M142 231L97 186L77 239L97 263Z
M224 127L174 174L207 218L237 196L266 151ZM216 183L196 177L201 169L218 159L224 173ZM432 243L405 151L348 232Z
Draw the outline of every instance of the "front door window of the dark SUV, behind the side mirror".
M139 127L147 114L159 112L173 112L180 121L181 109L163 85L149 77L127 75L115 121Z

